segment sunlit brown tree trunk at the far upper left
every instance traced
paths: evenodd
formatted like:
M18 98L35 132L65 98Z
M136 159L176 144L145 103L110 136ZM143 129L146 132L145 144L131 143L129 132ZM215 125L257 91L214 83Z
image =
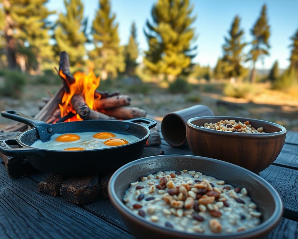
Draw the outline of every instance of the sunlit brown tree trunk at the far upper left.
M10 9L11 4L8 0L2 2L3 6ZM16 39L13 38L13 20L9 13L5 15L4 35L6 40L6 55L9 69L16 69Z

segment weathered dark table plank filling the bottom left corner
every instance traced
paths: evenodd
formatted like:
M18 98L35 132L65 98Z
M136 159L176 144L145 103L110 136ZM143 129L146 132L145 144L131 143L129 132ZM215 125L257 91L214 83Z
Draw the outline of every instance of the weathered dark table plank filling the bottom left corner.
M0 238L133 238L60 197L37 193L37 185L9 178L0 164Z

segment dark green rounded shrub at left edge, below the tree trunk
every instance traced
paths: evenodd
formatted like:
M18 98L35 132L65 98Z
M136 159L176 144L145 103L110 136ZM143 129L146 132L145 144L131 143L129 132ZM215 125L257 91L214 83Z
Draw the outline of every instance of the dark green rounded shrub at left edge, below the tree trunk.
M25 86L25 75L18 71L6 71L4 86L0 89L3 96L19 98Z

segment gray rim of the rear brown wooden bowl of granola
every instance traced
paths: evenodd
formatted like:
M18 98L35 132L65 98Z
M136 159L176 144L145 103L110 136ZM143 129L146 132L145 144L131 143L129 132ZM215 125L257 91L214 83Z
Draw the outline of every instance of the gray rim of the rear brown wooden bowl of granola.
M214 129L208 129L208 128L204 128L201 126L198 126L196 124L192 124L193 121L198 120L198 119L234 119L234 120L239 120L240 119L246 119L249 121L255 121L257 123L261 123L261 124L267 124L267 125L271 125L271 126L275 126L277 128L280 129L280 131L277 132L271 132L271 133L264 133L264 134L251 134L251 133L235 133L235 132L227 132L227 131L220 131L220 130L214 130ZM209 122L208 122L209 123ZM213 122L212 122L213 123ZM269 122L269 121L265 121L265 120L260 120L260 119L250 119L250 118L246 118L246 117L233 117L233 116L200 116L200 117L194 117L191 119L188 119L187 122L187 127L190 127L192 129L195 129L197 131L202 131L202 132L206 132L206 133L212 133L212 134L217 134L217 135L224 135L224 136L233 136L233 137L244 137L244 138L268 138L268 137L273 137L273 136L280 136L283 134L287 133L287 129L285 127L283 127L280 124L275 124L273 122Z

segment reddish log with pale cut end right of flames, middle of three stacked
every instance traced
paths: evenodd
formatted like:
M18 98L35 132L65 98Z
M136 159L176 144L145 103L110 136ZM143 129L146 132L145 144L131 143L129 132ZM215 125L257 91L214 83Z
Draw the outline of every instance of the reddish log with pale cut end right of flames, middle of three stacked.
M105 99L95 99L94 106L97 110L112 109L120 106L130 105L130 101L131 99L129 98L129 96L112 96Z

